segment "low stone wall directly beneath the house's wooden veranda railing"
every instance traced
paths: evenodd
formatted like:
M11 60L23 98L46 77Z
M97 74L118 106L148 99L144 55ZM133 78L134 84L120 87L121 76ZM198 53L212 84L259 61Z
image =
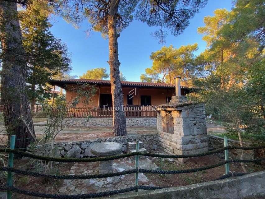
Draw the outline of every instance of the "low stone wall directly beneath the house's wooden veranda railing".
M64 121L73 127L112 127L112 118L67 118ZM156 125L157 118L126 118L127 127Z

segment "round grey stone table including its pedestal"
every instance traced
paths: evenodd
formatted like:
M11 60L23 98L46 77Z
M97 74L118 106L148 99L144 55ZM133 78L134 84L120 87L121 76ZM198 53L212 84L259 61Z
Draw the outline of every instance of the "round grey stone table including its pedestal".
M98 157L119 155L121 151L122 145L117 142L102 142L91 147L91 153ZM99 162L99 174L112 173L112 164L113 160Z

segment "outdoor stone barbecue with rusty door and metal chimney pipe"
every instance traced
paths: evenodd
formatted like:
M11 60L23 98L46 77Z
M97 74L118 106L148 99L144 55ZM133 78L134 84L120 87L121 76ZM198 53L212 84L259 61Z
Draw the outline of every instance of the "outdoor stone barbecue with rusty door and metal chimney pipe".
M180 77L176 79L176 96L169 104L156 106L160 147L167 154L189 155L208 151L205 105L188 102L180 96ZM180 160L180 159L179 159ZM181 159L180 162L186 161Z

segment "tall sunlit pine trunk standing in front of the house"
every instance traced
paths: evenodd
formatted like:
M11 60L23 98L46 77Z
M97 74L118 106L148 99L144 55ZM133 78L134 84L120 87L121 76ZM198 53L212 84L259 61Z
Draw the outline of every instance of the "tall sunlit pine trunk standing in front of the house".
M117 34L117 12L119 0L110 2L110 11L108 16L108 36L109 36L109 67L110 83L112 93L113 107L113 134L115 136L125 136L126 118L123 110L123 92L120 80L120 62L118 54L118 37Z

